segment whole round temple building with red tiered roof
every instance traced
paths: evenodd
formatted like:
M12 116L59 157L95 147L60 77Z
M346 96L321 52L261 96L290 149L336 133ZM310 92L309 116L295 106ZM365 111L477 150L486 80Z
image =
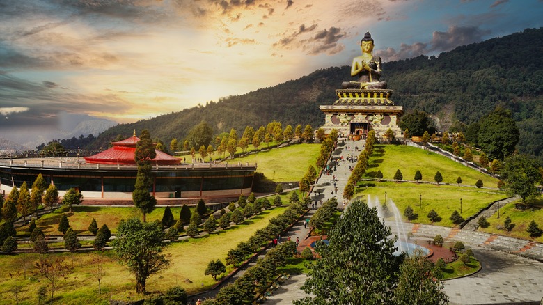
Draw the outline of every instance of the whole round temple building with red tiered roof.
M134 162L135 134L90 157L0 159L0 191L9 193L23 182L31 187L41 173L59 194L70 188L84 198L132 199L138 171ZM181 159L157 151L152 160L156 198L239 198L251 194L256 164L182 164Z

